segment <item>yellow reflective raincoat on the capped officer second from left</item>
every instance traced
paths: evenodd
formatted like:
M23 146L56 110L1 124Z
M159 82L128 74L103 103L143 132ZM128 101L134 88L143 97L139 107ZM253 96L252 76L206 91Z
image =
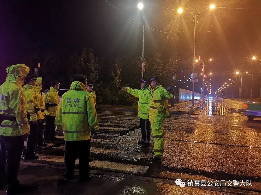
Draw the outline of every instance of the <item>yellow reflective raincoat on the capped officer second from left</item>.
M30 114L30 121L37 120L37 109L39 109L34 88L32 85L26 84L22 89L27 101L27 113Z

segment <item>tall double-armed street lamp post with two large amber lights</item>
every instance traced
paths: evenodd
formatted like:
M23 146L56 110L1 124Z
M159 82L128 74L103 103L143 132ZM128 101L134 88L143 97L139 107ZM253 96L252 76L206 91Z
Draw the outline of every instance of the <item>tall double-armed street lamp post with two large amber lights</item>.
M209 7L211 10L215 9L216 6L214 4L211 4ZM178 13L181 14L183 12L182 8L179 8ZM202 10L203 11L203 10ZM194 87L195 87L195 44L196 44L196 26L198 24L198 15L202 12L200 11L198 14L189 12L193 16L193 24L194 24L194 49L193 49L193 82L192 82L192 108L194 107Z

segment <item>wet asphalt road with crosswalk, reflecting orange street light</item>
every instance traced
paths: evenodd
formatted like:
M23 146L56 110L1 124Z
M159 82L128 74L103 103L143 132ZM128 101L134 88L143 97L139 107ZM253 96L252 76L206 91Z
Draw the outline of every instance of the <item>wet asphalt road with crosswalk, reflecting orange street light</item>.
M148 161L153 139L149 149L137 144L137 113L98 112L100 130L91 141L91 167L169 180L251 180L252 187L238 188L261 192L261 118L249 121L240 113L243 106L215 98L193 114L167 119L162 163ZM63 165L64 142L38 154L41 158L33 162Z

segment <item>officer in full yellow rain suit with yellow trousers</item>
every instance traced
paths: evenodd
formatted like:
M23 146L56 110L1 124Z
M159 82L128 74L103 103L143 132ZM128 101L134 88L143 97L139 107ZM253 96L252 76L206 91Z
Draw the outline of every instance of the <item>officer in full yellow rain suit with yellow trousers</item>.
M160 77L151 77L153 94L150 102L150 122L154 139L154 156L151 161L162 160L164 149L164 123L169 117L168 99L173 98L160 84Z

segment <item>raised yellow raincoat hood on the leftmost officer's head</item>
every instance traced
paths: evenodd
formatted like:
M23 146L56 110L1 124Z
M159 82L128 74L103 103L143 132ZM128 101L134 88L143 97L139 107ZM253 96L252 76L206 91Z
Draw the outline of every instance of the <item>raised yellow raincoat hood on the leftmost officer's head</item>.
M30 69L25 64L16 64L7 67L6 81L16 84L20 89L23 86L25 77L28 75Z

